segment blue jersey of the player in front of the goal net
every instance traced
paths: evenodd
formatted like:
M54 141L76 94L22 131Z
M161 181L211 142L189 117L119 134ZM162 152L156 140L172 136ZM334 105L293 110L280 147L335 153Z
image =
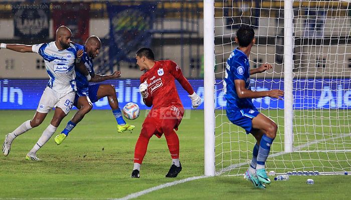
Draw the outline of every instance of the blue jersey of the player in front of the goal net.
M239 50L234 49L230 54L227 62L226 76L224 79L225 97L227 99L227 110L238 110L242 108L254 108L251 98L239 98L234 80L240 79L245 81L246 89L251 90L250 86L250 64L247 55Z

